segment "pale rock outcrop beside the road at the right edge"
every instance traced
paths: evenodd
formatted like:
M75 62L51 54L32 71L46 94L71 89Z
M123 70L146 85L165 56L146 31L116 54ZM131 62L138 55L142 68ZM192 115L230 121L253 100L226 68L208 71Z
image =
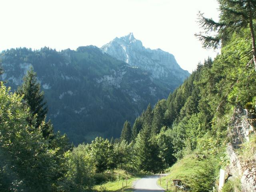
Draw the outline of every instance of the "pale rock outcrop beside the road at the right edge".
M254 133L254 127L249 123L248 112L237 107L234 112L233 122L230 124L229 136L231 142L227 146L227 154L230 165L227 167L228 174L235 178L241 178L242 192L256 192L256 154L251 157L241 157L237 150L241 144L250 141L250 134Z

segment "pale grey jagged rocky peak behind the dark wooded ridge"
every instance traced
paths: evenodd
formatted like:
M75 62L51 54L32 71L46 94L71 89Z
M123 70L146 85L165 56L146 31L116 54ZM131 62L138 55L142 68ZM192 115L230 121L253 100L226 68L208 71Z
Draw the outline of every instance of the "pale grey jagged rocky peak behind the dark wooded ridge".
M161 49L145 48L140 40L134 38L132 33L115 38L101 49L131 67L138 67L150 72L155 82L164 84L171 91L190 75L188 71L180 68L172 54Z

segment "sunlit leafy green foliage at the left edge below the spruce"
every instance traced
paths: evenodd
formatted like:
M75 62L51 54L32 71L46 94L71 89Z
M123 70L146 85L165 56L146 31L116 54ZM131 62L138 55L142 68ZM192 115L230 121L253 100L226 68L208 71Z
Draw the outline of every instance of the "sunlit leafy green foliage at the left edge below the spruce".
M51 191L57 182L57 150L48 148L35 119L27 123L32 118L29 108L3 84L0 106L1 191Z

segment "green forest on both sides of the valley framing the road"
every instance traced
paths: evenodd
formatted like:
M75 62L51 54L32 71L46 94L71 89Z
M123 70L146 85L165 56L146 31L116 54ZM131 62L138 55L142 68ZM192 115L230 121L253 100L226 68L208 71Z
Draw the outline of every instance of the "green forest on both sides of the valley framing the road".
M99 174L114 169L158 173L193 155L198 169L182 181L192 191L212 191L219 169L230 164L228 144L236 145L241 162L253 167L256 1L219 3L219 22L200 14L202 27L217 35L197 36L206 47L220 45L221 53L199 63L184 84L166 100L149 104L133 125L124 122L119 139L97 137L90 144L72 146L46 122L47 106L33 70L15 93L2 82L0 190L86 191L104 182ZM238 111L246 111L246 121L253 128L247 142L234 140ZM222 189L241 190L245 191L237 180L228 180Z

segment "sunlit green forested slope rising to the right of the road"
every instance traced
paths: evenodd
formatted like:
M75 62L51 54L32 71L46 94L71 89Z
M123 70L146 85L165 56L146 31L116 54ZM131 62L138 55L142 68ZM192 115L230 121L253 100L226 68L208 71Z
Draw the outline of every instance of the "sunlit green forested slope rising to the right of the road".
M168 178L181 179L192 191L217 188L220 168L232 175L225 191L256 190L256 69L251 46L250 28L232 32L221 54L199 63L184 84L136 119L130 138L143 148L138 164L152 161L160 169L159 157L162 166L178 160L179 170L172 169ZM122 133L129 133L125 129ZM125 138L129 136L123 134L121 140Z

